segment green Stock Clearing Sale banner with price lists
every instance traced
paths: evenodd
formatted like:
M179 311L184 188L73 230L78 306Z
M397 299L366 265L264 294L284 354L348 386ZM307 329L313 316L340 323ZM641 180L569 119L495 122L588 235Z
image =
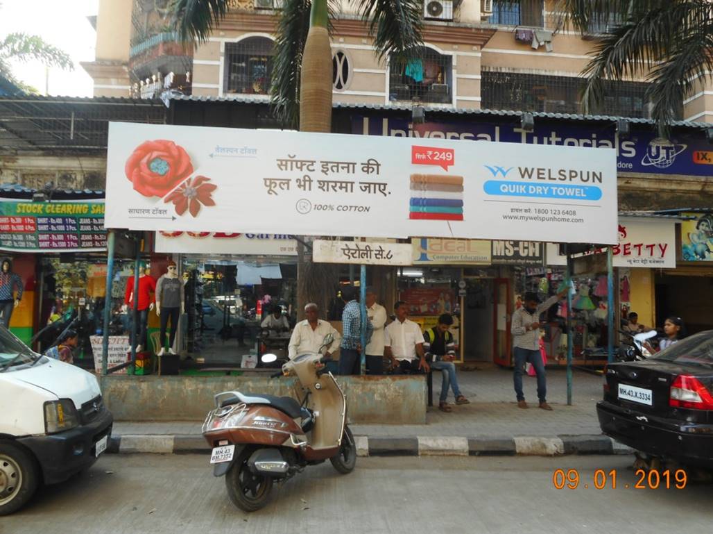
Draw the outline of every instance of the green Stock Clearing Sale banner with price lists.
M90 252L105 249L103 202L0 201L0 250Z

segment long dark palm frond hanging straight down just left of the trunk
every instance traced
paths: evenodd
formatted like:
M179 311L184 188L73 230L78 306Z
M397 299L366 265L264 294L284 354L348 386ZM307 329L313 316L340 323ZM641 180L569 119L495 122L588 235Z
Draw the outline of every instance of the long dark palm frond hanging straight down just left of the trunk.
M270 94L275 115L292 128L299 124L299 72L311 6L311 0L285 0L277 21Z

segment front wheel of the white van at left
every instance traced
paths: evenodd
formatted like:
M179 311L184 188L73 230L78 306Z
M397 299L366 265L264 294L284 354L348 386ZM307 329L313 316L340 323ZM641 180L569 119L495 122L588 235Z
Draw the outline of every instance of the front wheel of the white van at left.
M35 459L19 445L0 441L0 515L19 510L34 495L39 482Z

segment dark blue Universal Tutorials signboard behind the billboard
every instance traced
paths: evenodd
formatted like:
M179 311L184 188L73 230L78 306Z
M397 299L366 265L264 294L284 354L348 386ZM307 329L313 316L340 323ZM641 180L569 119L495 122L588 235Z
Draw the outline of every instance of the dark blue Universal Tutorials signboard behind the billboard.
M713 149L707 143L702 130L675 133L671 140L665 140L657 138L653 130L632 127L631 136L620 139L614 126L606 123L590 123L585 126L535 121L534 131L524 131L520 129L519 123L453 121L427 122L414 126L406 119L356 116L352 119L352 133L615 148L617 168L622 172L713 176Z

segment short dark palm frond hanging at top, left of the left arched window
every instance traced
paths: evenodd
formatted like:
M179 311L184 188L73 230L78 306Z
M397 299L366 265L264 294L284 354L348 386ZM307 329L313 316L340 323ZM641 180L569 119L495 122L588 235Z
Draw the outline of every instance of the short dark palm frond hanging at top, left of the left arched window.
M225 19L229 4L229 0L174 0L171 24L181 41L205 43Z

